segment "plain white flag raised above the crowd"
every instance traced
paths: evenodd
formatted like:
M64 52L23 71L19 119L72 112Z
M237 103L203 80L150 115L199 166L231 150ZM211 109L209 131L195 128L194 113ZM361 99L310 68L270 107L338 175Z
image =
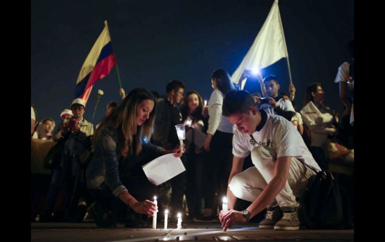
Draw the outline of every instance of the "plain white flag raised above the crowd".
M278 0L274 0L262 28L256 35L246 56L232 74L231 80L238 83L244 70L260 70L287 56Z

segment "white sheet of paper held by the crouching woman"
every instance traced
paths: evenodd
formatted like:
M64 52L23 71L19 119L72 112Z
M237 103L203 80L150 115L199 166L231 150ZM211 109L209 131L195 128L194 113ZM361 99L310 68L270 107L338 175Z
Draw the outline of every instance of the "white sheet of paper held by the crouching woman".
M173 154L160 156L142 166L142 169L148 181L156 186L186 170L180 158L174 157Z

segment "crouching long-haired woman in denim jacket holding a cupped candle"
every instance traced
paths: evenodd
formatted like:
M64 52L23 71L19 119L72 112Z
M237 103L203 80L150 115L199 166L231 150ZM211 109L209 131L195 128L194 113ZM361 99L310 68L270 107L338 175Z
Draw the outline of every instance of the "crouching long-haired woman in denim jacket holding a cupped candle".
M155 98L143 88L133 89L110 115L104 117L92 139L93 157L86 169L87 187L95 199L93 212L98 227L114 227L109 210L130 208L126 227L140 226L156 205L149 201L157 187L145 177L141 166L157 156L178 152L149 143L155 119ZM180 157L180 153L174 154Z

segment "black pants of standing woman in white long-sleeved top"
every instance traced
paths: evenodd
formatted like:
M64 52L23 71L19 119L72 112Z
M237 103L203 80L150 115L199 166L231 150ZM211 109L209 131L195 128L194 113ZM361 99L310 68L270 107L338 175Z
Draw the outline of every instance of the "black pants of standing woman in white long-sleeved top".
M222 197L226 196L232 164L232 135L216 130L211 138L210 152L205 162L205 208L215 209L221 204Z

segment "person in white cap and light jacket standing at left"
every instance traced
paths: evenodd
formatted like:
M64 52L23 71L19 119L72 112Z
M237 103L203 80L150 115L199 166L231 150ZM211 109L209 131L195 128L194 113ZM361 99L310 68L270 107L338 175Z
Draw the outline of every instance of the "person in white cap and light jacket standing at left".
M85 102L83 99L75 98L70 107L73 117L68 122L61 122L52 137L54 141L62 145L62 148L58 149L61 153L58 154L60 163L57 167L52 168L51 183L44 212L40 215L40 222L57 220L80 222L86 212L87 203L83 197L89 196L85 195L85 191L82 189L84 170L78 165L78 155L89 148L90 136L93 135L93 124L84 119ZM64 199L61 200L63 211L54 213L54 217L52 217L55 202L61 190L64 190L65 193Z

